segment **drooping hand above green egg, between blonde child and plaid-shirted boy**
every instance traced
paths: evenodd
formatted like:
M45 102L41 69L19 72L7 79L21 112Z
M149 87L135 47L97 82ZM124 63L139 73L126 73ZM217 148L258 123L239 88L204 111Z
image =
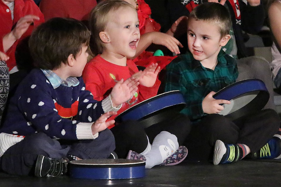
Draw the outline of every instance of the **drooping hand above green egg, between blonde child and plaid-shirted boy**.
M170 51L174 52L175 54L180 54L179 46L183 47L181 42L176 38L170 36L169 34L165 34L162 32L150 32L153 34L152 36L152 43L157 45L166 46Z

